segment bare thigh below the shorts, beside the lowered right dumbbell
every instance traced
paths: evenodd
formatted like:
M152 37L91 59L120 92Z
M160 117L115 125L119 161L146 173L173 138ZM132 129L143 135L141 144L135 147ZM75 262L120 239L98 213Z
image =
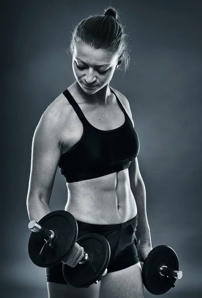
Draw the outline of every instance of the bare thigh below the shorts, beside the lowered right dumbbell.
M143 298L141 266L138 262L101 278L99 298Z

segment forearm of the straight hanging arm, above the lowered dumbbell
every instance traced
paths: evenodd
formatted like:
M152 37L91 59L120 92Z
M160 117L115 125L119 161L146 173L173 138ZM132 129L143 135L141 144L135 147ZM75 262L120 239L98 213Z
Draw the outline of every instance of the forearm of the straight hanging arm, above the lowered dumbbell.
M137 206L137 228L135 232L137 243L151 245L151 234L146 214L146 190L142 178L137 181L132 192Z

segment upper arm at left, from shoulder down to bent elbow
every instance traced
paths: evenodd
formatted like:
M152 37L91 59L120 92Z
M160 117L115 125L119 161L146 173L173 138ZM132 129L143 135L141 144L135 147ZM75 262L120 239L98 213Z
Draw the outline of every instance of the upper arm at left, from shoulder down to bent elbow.
M61 157L60 128L54 116L46 110L34 132L27 200L36 197L47 203L50 200Z

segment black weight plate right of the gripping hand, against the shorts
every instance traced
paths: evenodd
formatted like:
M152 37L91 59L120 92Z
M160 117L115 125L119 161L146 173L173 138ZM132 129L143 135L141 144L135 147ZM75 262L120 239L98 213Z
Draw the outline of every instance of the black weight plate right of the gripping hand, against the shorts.
M87 288L100 280L109 264L110 245L107 239L96 233L80 237L76 242L87 252L89 260L76 267L63 264L63 275L67 284L75 288Z

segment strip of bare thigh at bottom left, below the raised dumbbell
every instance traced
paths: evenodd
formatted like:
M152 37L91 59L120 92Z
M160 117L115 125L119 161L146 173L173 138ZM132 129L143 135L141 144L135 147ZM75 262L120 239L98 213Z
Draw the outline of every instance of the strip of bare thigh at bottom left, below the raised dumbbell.
M47 282L49 298L99 298L100 282L88 288L74 288L67 284Z

